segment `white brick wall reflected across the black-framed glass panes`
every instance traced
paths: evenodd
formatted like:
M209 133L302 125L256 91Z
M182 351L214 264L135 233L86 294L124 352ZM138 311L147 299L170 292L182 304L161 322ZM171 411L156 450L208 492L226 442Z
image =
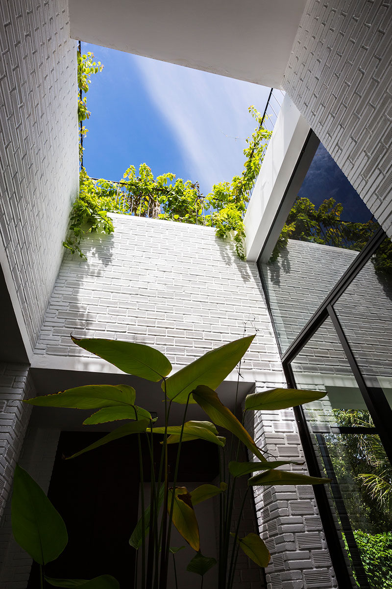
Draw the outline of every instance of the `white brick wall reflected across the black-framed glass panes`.
M283 349L298 335L356 256L357 252L351 250L289 240L276 262L263 265L264 282ZM373 262L369 261L335 309L366 376L390 377L390 277L377 274ZM336 333L327 327L323 329L322 335L316 333L301 353L301 370L349 373L343 350L336 343ZM323 362L320 350L324 358L333 362Z

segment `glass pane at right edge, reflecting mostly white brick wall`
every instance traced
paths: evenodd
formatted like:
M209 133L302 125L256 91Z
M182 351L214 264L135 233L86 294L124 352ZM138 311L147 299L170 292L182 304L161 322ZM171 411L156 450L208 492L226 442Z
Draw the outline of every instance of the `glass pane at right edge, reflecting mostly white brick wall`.
M334 305L368 386L392 405L392 244L383 241Z

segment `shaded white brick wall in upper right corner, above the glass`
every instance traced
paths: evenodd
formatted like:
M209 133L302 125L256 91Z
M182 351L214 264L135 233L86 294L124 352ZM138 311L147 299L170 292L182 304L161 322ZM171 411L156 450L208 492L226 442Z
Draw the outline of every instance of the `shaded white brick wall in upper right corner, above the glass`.
M392 236L392 6L310 0L283 88Z

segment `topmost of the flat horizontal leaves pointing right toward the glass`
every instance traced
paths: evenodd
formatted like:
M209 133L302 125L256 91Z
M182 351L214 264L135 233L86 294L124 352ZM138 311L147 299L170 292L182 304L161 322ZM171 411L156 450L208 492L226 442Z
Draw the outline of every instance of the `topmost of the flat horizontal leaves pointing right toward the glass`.
M287 409L296 405L303 405L311 401L317 401L326 396L326 392L302 391L300 389L272 389L247 395L245 398L245 409L258 411L265 409Z

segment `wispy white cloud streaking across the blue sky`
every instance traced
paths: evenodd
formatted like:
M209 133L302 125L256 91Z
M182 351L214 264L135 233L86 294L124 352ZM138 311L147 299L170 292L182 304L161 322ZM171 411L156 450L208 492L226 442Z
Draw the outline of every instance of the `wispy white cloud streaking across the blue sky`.
M189 178L206 193L239 174L244 138L255 127L247 108L263 110L269 88L135 55L129 59L172 128Z

